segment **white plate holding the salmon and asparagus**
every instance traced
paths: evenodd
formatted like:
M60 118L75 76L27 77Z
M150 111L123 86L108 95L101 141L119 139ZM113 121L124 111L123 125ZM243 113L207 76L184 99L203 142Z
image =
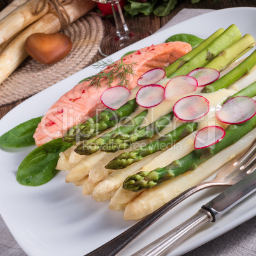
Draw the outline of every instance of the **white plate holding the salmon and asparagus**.
M126 52L152 43L162 43L173 34L189 33L206 38L220 27L227 28L231 24L238 25L242 34L250 33L256 38L256 8L230 8L206 13L143 39L113 54L112 59L117 60ZM43 115L64 92L93 73L96 73L96 70L92 67L85 68L27 99L2 118L0 134L21 122ZM1 215L28 255L84 255L134 224L123 220L122 213L108 210L108 203L96 203L90 197L83 197L81 187L65 183L64 172L60 172L52 181L40 187L20 185L15 178L17 168L32 148L34 147L0 150ZM187 199L162 217L157 225L144 232L122 252L122 255L131 255L162 236L196 213L202 204L207 203L218 192L220 189L213 188ZM171 255L181 255L203 245L255 215L255 196L251 196L216 224L210 224L201 232L197 232Z

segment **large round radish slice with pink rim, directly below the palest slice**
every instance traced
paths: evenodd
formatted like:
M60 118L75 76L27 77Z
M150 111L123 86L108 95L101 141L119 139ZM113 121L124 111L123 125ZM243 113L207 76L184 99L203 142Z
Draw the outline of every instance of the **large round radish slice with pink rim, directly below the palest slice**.
M209 101L200 95L183 97L173 106L174 115L183 121L204 117L209 111Z

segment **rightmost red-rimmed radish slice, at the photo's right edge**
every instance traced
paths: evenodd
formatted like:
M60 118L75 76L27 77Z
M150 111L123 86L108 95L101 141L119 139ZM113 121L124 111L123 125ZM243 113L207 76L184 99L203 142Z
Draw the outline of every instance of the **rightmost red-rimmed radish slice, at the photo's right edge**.
M217 112L217 117L225 124L241 124L256 114L256 103L252 98L237 96L226 101Z

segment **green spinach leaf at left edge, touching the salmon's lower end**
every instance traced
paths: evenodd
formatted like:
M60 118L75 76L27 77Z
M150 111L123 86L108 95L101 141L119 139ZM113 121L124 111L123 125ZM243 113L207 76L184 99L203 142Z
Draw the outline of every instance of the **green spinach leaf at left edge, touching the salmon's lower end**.
M34 145L34 132L41 122L42 117L36 117L17 125L0 137L0 145L9 148L21 148L22 146Z

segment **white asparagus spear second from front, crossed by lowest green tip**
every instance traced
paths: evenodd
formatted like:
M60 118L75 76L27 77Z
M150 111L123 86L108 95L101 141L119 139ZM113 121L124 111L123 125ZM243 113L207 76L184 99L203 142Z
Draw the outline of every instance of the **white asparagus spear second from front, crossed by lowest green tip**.
M139 171L153 171L158 167L164 167L168 164L171 164L174 160L180 159L183 155L191 152L194 149L194 139L197 132L193 132L188 135L186 138L181 139L178 143L176 143L171 148L168 148L166 152L161 153L158 157L151 160L145 166L143 166ZM122 211L125 206L133 199L138 197L141 192L133 192L129 190L125 190L122 186L118 188L115 196L113 196L110 200L110 210Z

